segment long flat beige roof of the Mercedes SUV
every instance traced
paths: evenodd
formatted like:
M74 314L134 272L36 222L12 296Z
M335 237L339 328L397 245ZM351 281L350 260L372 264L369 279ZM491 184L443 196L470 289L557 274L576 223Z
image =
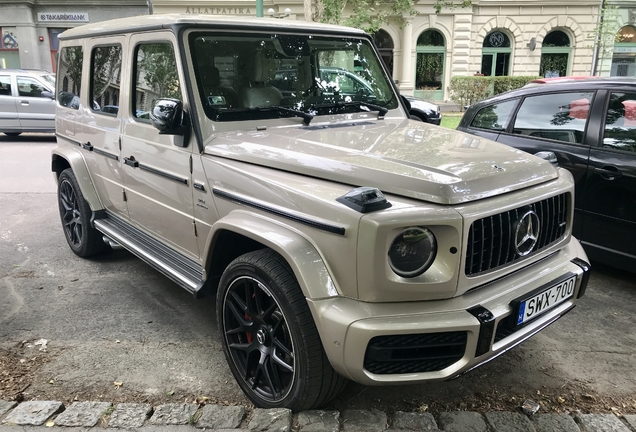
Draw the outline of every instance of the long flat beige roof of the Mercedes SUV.
M307 21L280 20L275 18L256 18L228 15L198 15L198 14L159 14L142 15L129 18L119 18L101 21L75 27L59 35L62 40L94 37L106 34L121 34L137 31L158 30L175 26L200 27L214 29L244 28L245 30L276 31L289 30L291 32L312 33L340 33L362 36L362 30L331 24L313 23Z

